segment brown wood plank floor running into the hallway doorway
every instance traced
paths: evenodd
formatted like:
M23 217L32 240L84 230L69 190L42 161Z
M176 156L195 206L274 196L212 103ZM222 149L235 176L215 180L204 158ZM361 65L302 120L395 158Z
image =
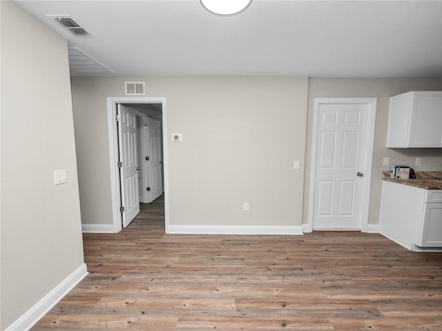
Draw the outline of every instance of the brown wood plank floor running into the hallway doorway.
M442 330L442 254L381 234L84 234L90 274L32 330Z

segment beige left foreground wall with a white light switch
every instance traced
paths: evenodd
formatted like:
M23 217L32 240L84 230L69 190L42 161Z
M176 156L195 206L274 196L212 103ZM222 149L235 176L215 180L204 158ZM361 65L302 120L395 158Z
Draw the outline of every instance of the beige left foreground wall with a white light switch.
M84 263L66 40L1 6L1 325ZM55 186L54 170L68 183Z

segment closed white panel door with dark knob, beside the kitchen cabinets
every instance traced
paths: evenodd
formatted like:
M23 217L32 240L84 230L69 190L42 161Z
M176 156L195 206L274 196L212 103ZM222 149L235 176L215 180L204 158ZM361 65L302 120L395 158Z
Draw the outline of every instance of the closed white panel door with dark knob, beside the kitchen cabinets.
M361 230L367 104L317 103L314 230Z

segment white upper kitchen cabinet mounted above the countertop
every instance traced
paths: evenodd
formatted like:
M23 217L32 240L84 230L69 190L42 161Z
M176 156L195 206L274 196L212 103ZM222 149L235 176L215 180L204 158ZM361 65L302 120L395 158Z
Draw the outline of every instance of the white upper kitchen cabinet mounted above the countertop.
M442 147L442 91L390 98L387 148Z

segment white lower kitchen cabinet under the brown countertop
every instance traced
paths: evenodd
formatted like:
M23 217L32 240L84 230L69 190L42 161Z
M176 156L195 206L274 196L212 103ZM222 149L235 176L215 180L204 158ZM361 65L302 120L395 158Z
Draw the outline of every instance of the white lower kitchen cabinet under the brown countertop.
M383 181L381 234L414 252L442 252L442 190Z

